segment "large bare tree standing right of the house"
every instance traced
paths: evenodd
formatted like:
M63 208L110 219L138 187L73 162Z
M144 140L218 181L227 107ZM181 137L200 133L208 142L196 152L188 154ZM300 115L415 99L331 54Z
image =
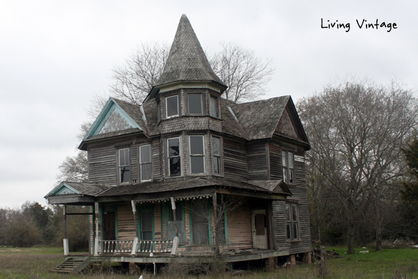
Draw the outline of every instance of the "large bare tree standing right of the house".
M418 123L413 92L396 82L376 86L367 80L328 85L298 103L311 140L308 160L338 193L348 225L348 253L354 252L356 225L364 206L375 206L376 240L381 240L382 199L404 173L401 149ZM378 247L379 249L379 243Z

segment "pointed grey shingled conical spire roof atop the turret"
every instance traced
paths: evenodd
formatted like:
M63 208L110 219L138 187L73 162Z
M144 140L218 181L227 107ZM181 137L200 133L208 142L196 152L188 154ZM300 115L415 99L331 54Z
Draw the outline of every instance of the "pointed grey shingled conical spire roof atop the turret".
M210 67L186 15L180 18L167 64L157 85L179 80L213 80L226 87Z

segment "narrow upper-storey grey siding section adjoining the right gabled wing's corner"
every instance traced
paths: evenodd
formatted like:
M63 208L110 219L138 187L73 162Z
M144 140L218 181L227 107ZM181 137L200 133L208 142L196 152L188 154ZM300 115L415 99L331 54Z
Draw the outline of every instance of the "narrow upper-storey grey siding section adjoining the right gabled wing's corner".
M268 180L266 144L266 141L248 142L247 144L249 180Z

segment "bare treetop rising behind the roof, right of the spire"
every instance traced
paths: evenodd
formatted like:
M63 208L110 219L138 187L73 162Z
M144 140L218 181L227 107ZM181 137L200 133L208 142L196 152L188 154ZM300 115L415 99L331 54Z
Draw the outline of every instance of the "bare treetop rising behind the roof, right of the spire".
M257 100L265 95L265 85L274 73L272 59L263 60L254 51L235 43L221 43L222 51L210 58L210 65L228 85L224 98L234 102Z

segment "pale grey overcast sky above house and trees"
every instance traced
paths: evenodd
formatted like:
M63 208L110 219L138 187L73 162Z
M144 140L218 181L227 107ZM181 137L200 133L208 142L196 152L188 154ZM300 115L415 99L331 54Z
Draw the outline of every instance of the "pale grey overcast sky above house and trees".
M111 69L141 42L171 43L183 13L206 50L231 41L272 57L266 98L297 102L350 76L417 88L417 10L418 1L387 0L0 0L0 207L46 204ZM323 29L321 19L350 31ZM397 29L360 29L356 20Z

